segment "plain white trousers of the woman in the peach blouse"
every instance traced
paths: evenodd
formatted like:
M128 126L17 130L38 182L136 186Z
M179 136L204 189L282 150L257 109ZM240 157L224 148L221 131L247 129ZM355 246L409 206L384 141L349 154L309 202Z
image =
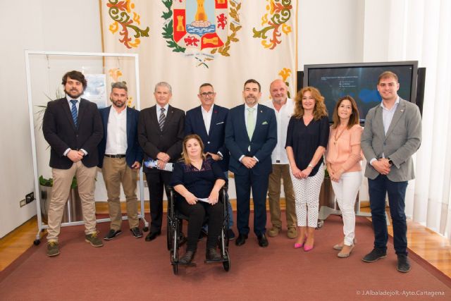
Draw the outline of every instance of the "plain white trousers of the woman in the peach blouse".
M338 183L332 181L333 192L343 217L345 245L352 245L355 237L354 204L360 184L362 184L362 171L343 173Z

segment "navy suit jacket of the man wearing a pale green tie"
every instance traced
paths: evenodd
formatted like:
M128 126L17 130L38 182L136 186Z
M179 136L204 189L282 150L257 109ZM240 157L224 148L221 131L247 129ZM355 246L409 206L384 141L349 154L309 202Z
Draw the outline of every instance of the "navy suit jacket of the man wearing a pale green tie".
M259 104L252 140L249 140L247 135L245 105L230 109L226 121L226 147L230 151L230 171L237 174L247 172L246 166L239 161L240 156L245 155L255 156L259 160L252 168L252 173L256 175L271 173L271 153L276 144L277 121L273 109Z

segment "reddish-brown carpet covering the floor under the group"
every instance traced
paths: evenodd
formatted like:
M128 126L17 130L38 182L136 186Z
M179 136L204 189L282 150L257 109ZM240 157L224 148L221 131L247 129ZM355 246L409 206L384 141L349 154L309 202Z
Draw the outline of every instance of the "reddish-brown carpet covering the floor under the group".
M251 233L242 247L230 243L231 268L226 272L221 264L204 264L203 240L197 267L180 267L178 276L173 275L166 250L166 228L156 240L144 242L132 238L126 221L123 226L123 234L99 248L84 241L82 226L62 228L58 257L46 256L43 241L0 273L0 300L432 300L431 294L433 300L450 300L451 296L450 278L412 252L412 271L396 271L391 242L388 257L362 262L373 245L371 223L364 218L357 218L358 243L348 259L338 259L332 249L342 237L342 224L340 217L330 216L316 231L311 252L295 250L286 231L269 238L267 248L259 247ZM107 223L99 224L102 237L108 228Z

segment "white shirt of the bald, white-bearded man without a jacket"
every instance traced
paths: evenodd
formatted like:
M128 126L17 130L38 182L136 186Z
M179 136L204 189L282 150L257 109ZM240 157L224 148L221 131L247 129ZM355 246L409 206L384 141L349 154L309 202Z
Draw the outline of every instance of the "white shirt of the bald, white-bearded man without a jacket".
M295 102L287 98L287 102L277 111L274 108L273 101L270 99L264 102L265 106L274 110L277 120L277 145L271 154L271 161L273 164L289 164L285 143L287 141L287 130L290 118L295 110Z

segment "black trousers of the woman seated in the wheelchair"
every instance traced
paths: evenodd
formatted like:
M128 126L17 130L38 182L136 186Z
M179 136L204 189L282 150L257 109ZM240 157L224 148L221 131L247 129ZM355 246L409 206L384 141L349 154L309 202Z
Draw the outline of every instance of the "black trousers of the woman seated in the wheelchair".
M199 201L194 205L190 205L183 197L177 197L175 207L181 214L188 217L187 251L197 250L197 240L206 216L209 218L209 235L206 239L206 248L216 248L224 219L223 203L217 202L211 205Z

